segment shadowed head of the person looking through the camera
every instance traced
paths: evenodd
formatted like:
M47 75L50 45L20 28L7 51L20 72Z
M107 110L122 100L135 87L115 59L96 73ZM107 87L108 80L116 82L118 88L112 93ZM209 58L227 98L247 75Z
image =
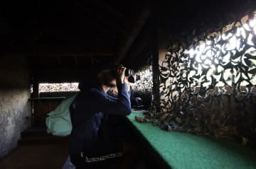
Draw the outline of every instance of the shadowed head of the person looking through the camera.
M100 74L99 74L99 78L100 81L108 87L113 88L114 86L117 86L117 81L114 78L114 76L112 75L112 71L111 70L103 70Z

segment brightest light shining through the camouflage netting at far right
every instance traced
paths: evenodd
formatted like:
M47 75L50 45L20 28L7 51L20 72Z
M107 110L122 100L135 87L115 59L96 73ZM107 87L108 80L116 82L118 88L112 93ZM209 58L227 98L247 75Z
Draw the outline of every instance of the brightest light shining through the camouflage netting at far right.
M188 77L202 76L203 72L211 72L211 74L223 74L223 79L229 86L232 86L233 78L238 79L237 76L248 80L250 77L250 83L256 85L256 75L253 74L256 69L255 59L248 59L247 56L256 57L256 15L255 18L249 19L247 23L244 23L235 31L227 31L223 35L214 34L213 40L201 40L199 45L191 47L191 49L185 50L183 53L188 54L189 61L188 66L191 66L195 71L190 71ZM246 61L245 61L246 60ZM250 65L248 63L250 62ZM233 68L225 69L228 64L233 65ZM240 72L236 66L242 63L242 66L250 67L247 72L247 76ZM210 74L209 78L210 79ZM203 78L202 78L203 79ZM210 83L209 83L210 84ZM218 83L217 85L224 85L224 83ZM249 83L242 81L241 86L246 86ZM195 86L200 86L201 81L197 81ZM204 83L207 85L207 83ZM203 86L204 86L203 85Z

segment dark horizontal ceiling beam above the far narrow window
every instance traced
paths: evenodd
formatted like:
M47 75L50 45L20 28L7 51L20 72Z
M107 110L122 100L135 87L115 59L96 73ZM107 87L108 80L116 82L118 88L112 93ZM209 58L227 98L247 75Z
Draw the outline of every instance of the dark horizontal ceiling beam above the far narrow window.
M0 55L14 56L105 56L112 57L113 49L107 45L19 45L3 47Z

